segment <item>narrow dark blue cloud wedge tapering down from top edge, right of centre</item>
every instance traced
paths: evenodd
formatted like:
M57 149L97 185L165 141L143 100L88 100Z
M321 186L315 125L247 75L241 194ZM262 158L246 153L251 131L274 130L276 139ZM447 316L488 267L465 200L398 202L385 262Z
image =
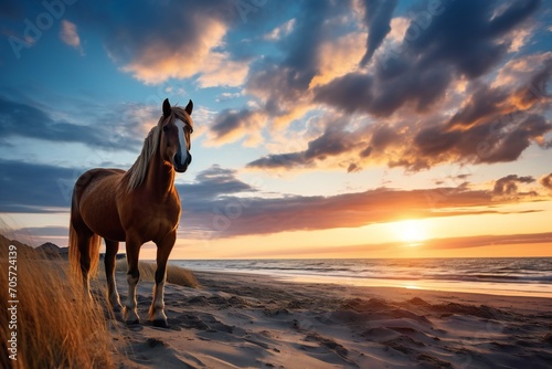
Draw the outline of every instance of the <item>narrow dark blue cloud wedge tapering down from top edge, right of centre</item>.
M364 22L368 27L367 53L360 64L364 66L383 39L391 31L390 22L397 0L364 0Z

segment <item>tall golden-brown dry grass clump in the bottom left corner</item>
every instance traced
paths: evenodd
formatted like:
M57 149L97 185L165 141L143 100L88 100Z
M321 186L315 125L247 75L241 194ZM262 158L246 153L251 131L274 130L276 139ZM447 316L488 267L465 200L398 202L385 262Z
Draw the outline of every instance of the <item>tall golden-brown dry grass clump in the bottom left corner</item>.
M97 302L84 299L82 287L70 282L62 260L46 260L18 247L17 361L6 344L11 337L7 315L8 246L0 244L0 336L3 368L89 368L113 366L113 345L104 312Z

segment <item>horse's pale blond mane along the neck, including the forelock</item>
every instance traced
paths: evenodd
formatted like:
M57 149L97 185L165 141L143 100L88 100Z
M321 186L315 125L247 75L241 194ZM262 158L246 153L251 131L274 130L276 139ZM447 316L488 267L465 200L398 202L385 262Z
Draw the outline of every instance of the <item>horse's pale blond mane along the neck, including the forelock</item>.
M156 154L157 149L159 148L162 122L164 122L166 119L172 122L173 117L177 116L183 122L188 122L190 126L193 128L192 117L183 108L181 108L180 106L173 106L171 110L172 112L169 117L166 118L161 116L157 125L153 128L151 128L148 136L144 140L144 147L141 148L140 155L136 159L135 164L130 167L130 169L128 169L127 172L125 173L125 178L128 181L129 190L138 188L144 182L144 179L148 173L149 161L151 160L153 154Z

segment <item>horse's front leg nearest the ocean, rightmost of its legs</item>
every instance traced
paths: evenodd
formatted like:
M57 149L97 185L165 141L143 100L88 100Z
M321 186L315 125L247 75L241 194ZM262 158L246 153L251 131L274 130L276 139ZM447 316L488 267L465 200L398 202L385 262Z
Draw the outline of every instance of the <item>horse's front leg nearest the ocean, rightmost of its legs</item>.
M156 327L167 328L167 315L164 315L164 282L167 280L167 261L177 240L177 232L168 234L163 240L157 242L157 271L156 284L153 286L153 301L149 308L149 319Z

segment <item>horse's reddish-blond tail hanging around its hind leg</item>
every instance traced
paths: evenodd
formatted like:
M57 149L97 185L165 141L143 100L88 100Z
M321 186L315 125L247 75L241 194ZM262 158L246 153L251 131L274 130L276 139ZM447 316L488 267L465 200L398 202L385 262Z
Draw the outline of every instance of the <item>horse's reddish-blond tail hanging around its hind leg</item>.
M97 234L93 234L88 243L83 243L79 245L78 233L74 225L74 220L79 218L78 207L76 204L75 196L73 196L73 201L71 203L71 221L70 221L70 234L68 234L68 259L71 275L75 281L82 281L83 270L81 266L81 253L85 252L88 254L91 261L91 268L88 271L89 276L96 274L96 270L99 262L99 247L102 245L102 238ZM81 250L84 249L84 250Z

